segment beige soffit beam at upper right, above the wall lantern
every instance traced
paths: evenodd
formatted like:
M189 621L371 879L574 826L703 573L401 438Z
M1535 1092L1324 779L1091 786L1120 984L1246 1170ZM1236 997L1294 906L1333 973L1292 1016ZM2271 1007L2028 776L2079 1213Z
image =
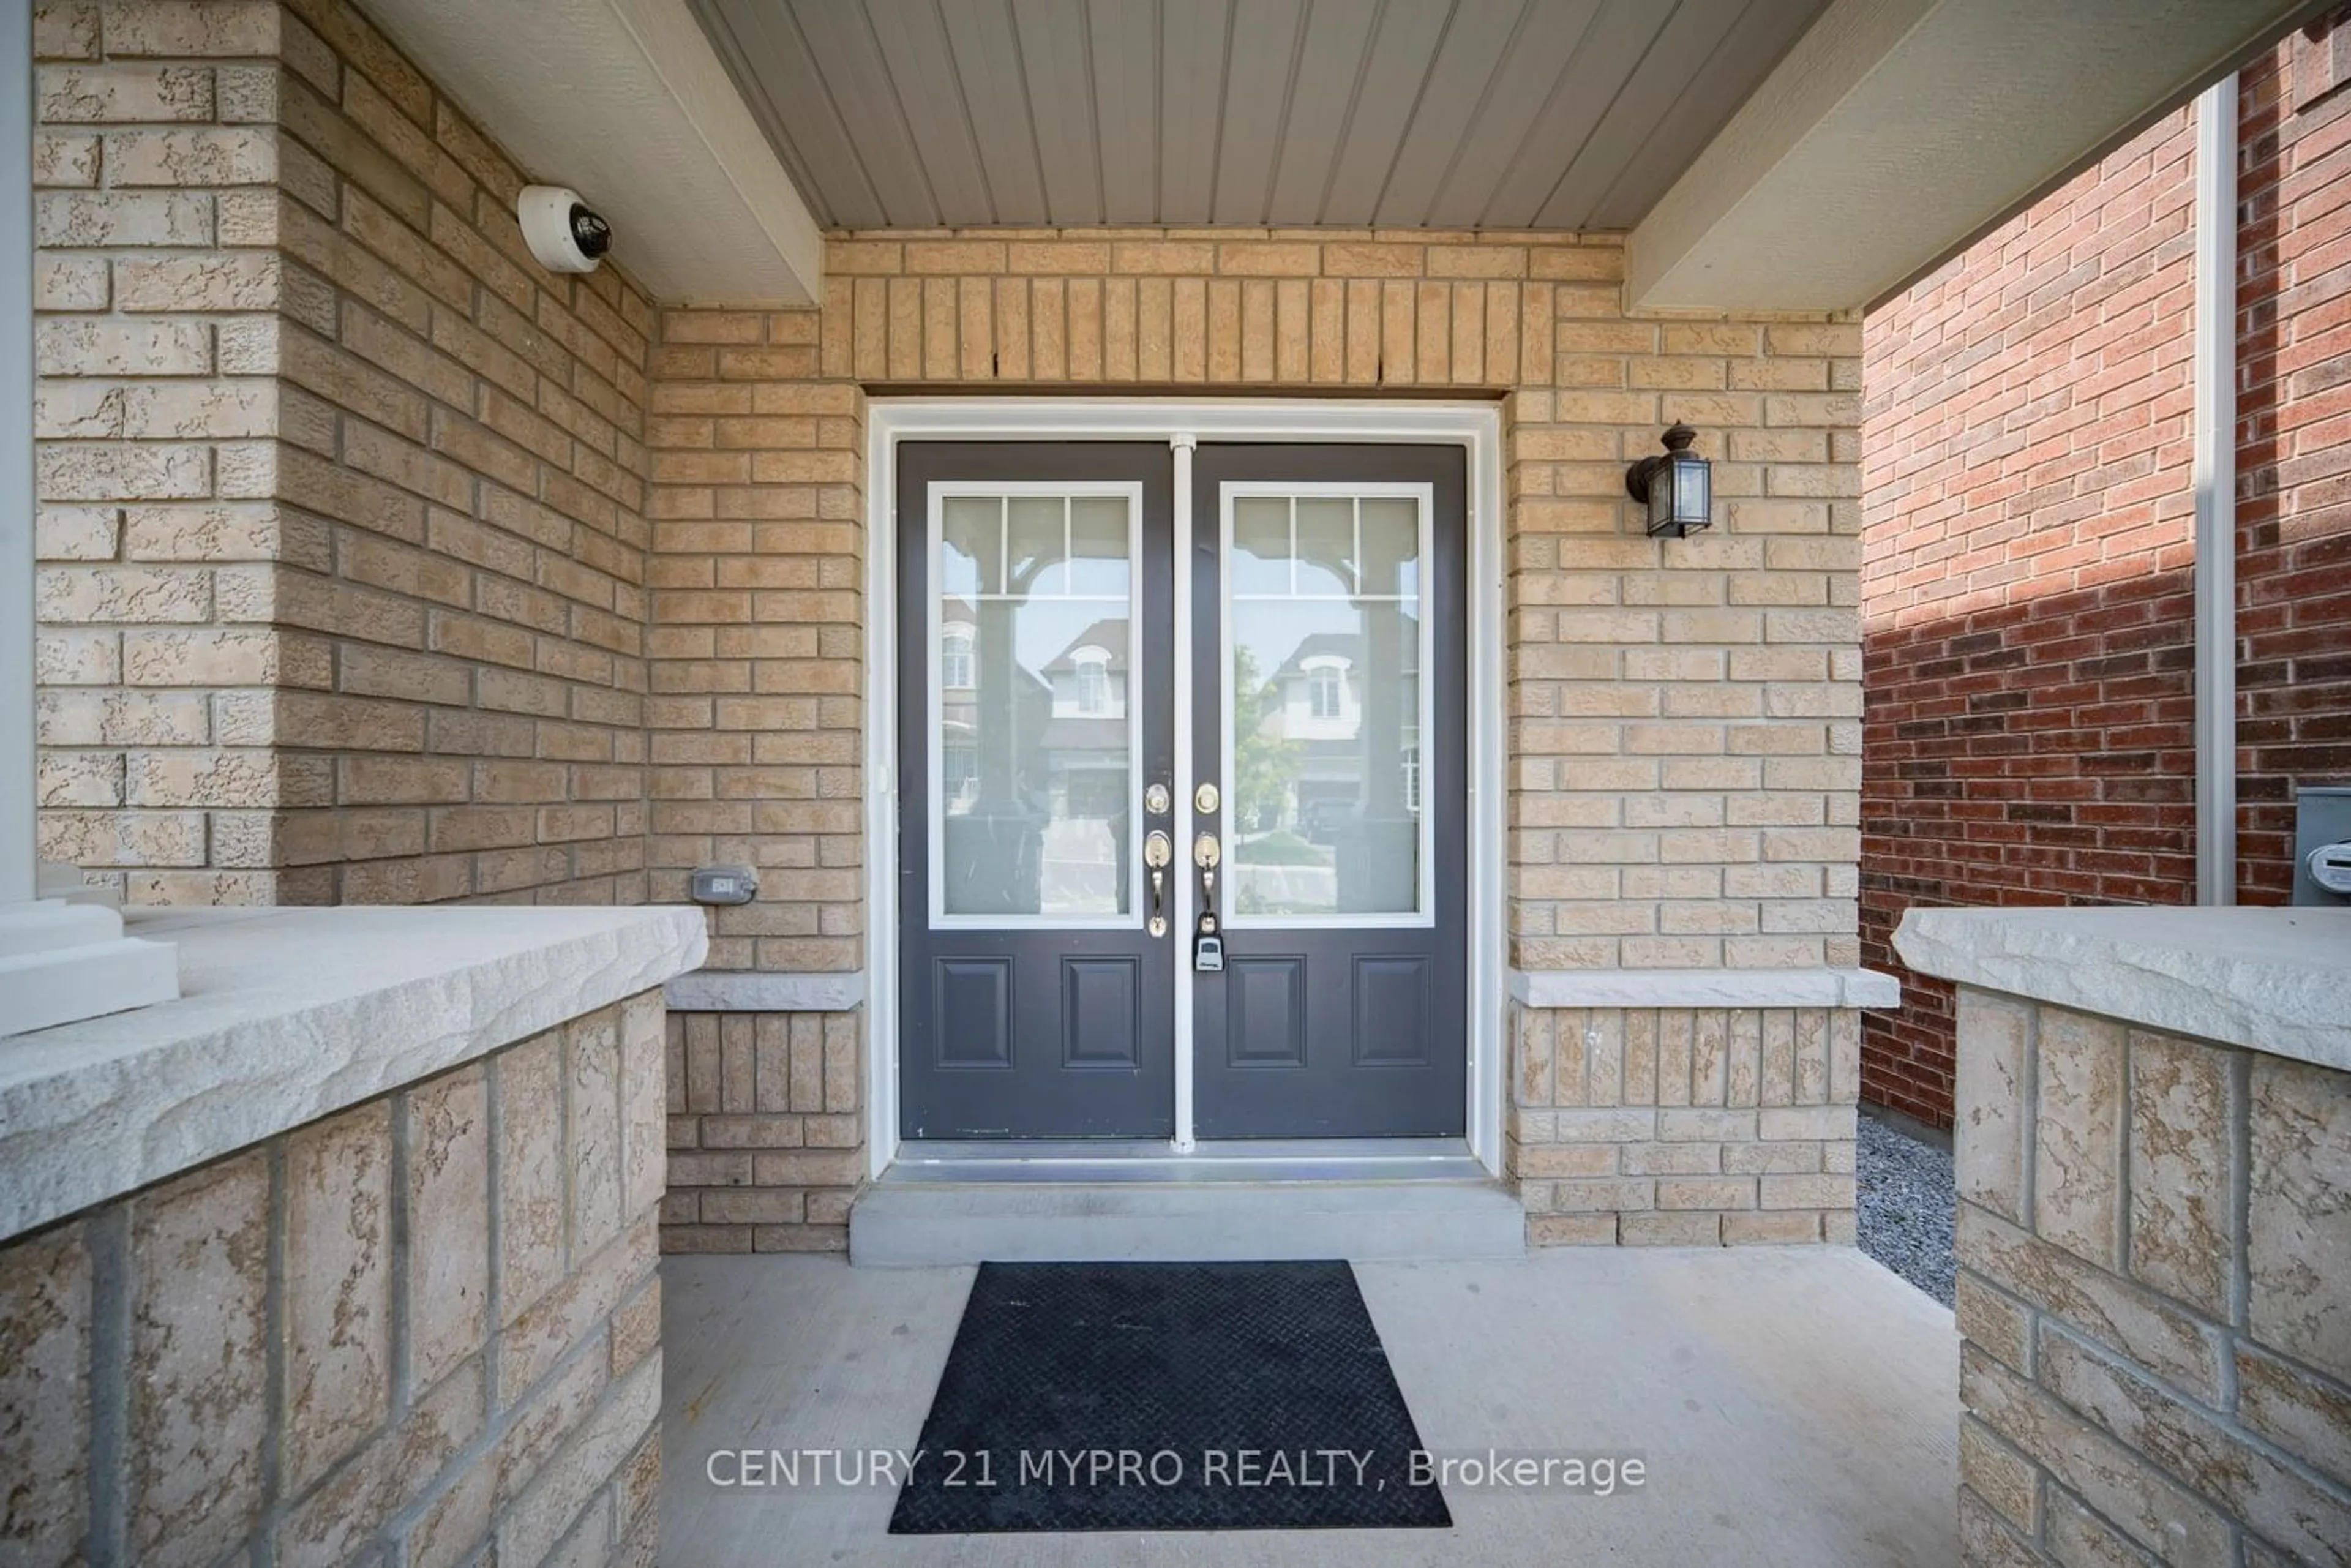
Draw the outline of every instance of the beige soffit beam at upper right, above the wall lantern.
M1836 0L1627 240L1639 308L1869 306L2311 0Z

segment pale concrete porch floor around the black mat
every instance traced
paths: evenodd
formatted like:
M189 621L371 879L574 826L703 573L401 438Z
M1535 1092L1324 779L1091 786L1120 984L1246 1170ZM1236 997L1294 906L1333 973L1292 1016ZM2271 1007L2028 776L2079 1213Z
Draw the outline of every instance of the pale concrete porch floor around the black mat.
M1432 1450L1641 1455L1613 1497L1448 1488L1451 1530L889 1535L896 1486L724 1490L722 1448L912 1448L969 1267L668 1258L663 1554L734 1563L1951 1563L1951 1314L1850 1248L1357 1265Z

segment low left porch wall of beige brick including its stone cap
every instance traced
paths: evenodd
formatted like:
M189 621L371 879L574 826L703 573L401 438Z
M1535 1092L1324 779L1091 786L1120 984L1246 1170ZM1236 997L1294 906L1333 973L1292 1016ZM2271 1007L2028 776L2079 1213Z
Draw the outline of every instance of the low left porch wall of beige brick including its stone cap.
M656 1561L698 914L150 922L195 994L0 1056L0 1561Z

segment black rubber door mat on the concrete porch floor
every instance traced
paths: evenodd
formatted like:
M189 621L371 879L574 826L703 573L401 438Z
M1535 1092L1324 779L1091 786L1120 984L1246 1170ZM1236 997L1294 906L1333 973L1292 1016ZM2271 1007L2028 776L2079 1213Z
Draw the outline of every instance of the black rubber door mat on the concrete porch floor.
M983 1262L891 1535L1453 1523L1345 1262Z

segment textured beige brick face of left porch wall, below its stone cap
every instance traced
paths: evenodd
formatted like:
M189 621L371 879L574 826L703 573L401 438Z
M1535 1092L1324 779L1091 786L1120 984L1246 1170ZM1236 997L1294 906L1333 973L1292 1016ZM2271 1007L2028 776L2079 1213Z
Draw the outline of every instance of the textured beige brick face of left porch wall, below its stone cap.
M0 1559L651 1563L658 1072L644 992L0 1246Z

